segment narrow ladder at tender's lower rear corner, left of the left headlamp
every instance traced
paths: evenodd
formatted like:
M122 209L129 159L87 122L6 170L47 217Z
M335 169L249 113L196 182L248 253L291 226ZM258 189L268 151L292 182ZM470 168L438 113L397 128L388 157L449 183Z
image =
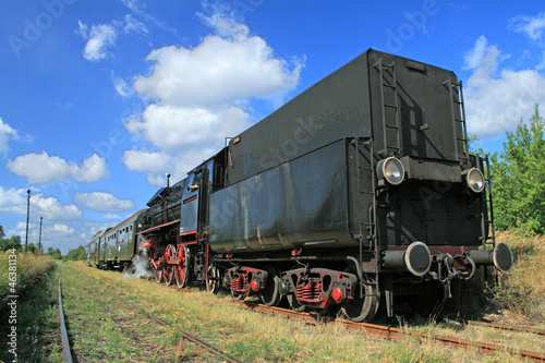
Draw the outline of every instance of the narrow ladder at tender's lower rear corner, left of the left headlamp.
M355 146L355 170L356 170L356 183L358 183L358 213L359 213L359 234L356 235L360 241L360 266L363 262L363 244L364 241L368 241L367 251L373 251L375 254L375 281L376 291L379 290L378 285L378 258L380 254L378 253L378 239L376 230L376 198L375 198L375 164L374 164L374 150L373 141L361 140L359 137L352 141ZM366 154L368 153L368 154ZM362 160L368 155L368 164L362 165ZM363 156L363 157L362 157ZM371 177L370 189L365 189L362 183L362 174L367 174ZM372 198L373 203L370 206L365 216L365 209L363 208L365 204L365 198ZM363 283L363 282L362 282ZM363 298L363 289L360 289L360 298Z

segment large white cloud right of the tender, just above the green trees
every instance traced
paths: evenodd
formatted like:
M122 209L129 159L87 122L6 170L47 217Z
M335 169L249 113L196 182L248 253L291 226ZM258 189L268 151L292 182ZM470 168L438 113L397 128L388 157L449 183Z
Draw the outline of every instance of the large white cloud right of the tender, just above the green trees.
M465 69L473 72L464 84L470 133L487 137L513 130L545 101L545 76L535 70L499 70L505 58L484 36L464 56Z

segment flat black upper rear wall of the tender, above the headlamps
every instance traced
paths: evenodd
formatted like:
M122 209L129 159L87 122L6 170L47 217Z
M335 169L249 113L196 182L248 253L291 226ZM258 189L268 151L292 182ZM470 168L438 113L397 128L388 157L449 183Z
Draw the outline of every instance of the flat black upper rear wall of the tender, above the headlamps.
M452 101L445 82L457 82L453 72L414 62L412 60L368 50L370 89L373 118L373 137L376 149L384 148L383 109L386 110L388 124L395 123L396 112L400 123L401 156L445 159L459 161L456 154L456 137L462 135L460 122L452 122ZM392 87L382 86L377 62L393 65L398 110L384 107L380 88L385 90L386 105L395 105ZM390 72L385 72L384 84L393 82ZM460 110L455 109L455 118L460 119ZM457 130L455 135L453 128ZM387 142L396 144L396 129L387 128Z

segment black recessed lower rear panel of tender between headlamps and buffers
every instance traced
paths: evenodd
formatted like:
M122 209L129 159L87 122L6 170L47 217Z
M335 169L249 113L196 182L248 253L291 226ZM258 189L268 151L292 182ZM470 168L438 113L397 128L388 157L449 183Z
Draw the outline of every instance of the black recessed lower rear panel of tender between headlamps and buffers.
M378 198L382 245L481 245L481 195L461 183L404 182Z

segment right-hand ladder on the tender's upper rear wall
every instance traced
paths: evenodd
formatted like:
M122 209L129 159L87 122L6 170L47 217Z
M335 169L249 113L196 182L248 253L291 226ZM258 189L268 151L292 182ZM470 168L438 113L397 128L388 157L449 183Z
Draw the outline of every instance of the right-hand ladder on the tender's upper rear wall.
M463 105L462 81L443 82L450 96L450 114L452 118L452 135L455 137L455 157L459 161L469 161L468 128L465 125L465 107Z

